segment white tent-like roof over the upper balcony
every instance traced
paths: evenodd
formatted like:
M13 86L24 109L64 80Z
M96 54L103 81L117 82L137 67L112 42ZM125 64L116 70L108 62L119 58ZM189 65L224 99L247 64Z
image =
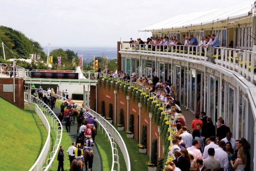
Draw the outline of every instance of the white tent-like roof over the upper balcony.
M212 9L203 12L180 14L175 17L148 26L139 31L145 32L162 29L177 29L187 26L198 26L208 23L215 23L221 20L231 20L238 17L246 17L248 16L248 12L251 11L251 8L255 6L255 3L255 1L250 1L222 9Z

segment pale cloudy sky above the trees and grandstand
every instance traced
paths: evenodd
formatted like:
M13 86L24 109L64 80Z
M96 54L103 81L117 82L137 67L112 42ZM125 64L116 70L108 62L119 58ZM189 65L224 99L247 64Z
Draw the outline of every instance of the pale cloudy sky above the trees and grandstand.
M248 0L246 0L248 2ZM0 25L42 47L116 47L151 36L138 30L179 14L219 9L241 0L0 0Z

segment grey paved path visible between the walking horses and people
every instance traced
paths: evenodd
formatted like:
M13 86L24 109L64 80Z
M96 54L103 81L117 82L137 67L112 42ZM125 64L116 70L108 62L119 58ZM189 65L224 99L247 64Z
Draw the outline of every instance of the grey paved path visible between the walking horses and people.
M56 107L53 108L53 112L58 116L58 113L60 113L61 109ZM63 131L67 131L66 130L66 126L65 126L65 122L63 122ZM70 132L68 133L69 136L70 136L70 139L72 142L76 142L76 138L78 136L78 134L76 134L76 130L77 130L77 125L76 125L76 122L75 124L71 124L70 125ZM70 144L71 146L71 144ZM94 153L94 157L93 157L93 171L102 171L103 168L101 167L102 166L102 161L101 161L101 158L100 158L100 153L99 153L99 149L97 147L97 143L95 141L94 143L94 146L93 146L93 153ZM83 168L83 171L85 171L85 166Z

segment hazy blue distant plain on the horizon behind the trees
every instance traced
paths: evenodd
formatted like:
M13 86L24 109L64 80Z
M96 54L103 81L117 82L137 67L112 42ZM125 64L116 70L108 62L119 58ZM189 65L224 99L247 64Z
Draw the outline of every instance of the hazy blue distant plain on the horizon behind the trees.
M116 47L51 47L50 46L50 52L53 49L63 49L63 50L72 50L75 53L77 53L78 56L81 56L83 54L83 60L86 63L90 63L93 59L93 57L103 57L108 59L116 59L117 55L117 48ZM48 53L48 47L44 48L43 51L47 54Z

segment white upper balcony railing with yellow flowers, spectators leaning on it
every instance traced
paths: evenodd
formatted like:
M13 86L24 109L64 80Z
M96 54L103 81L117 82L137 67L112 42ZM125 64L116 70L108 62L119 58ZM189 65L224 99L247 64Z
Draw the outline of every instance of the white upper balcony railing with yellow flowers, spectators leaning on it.
M129 43L120 44L121 52L136 52L136 53L145 53L147 55L161 55L163 58L170 58L171 56L177 56L180 60L194 59L198 61L208 61L212 62L215 65L224 67L231 72L236 71L247 81L253 83L256 81L256 75L254 75L254 60L256 60L256 52L242 49L230 49L225 47L213 47L214 58L208 57L209 47L198 47L198 46L168 46L168 45L151 45L151 48L148 48L150 45L134 45L130 47ZM143 48L143 49L142 49ZM230 59L231 58L231 59ZM245 62L247 66L245 67ZM240 64L241 63L241 64ZM249 67L253 66L253 67Z

